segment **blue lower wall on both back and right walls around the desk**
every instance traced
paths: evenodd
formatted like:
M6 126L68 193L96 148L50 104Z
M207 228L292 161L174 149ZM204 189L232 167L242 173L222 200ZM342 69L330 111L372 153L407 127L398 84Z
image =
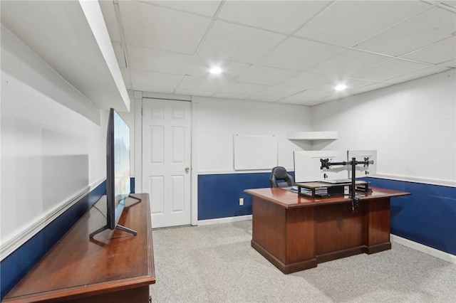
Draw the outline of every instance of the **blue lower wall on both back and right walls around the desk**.
M293 174L293 172L291 172ZM366 178L373 186L408 191L391 198L391 233L456 255L456 188L408 181ZM198 220L252 214L247 188L270 187L269 173L198 176ZM239 206L244 198L244 206Z

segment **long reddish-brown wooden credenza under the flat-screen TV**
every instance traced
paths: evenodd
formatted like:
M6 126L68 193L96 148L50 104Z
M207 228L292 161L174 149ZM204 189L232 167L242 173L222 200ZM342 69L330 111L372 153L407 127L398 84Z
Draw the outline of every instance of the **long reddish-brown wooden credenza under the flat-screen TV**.
M138 231L105 230L91 208L6 295L3 302L148 302L155 283L149 195L129 198L119 224ZM104 214L105 197L95 204Z

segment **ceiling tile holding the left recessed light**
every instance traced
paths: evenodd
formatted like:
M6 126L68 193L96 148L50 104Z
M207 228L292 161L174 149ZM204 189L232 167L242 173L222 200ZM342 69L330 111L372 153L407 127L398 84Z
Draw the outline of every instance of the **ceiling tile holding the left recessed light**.
M210 68L218 67L222 69L222 73L217 75L222 80L232 80L239 75L242 70L249 67L247 63L239 63L229 60L212 61L207 58L197 57L193 60L190 68L187 70L187 75L195 76L198 78L213 77L209 73Z

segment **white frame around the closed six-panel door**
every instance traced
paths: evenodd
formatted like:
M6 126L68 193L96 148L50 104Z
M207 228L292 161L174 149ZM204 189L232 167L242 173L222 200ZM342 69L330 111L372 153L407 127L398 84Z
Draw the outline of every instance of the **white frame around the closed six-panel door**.
M198 225L198 174L197 174L197 143L193 140L197 134L197 104L192 97L159 94L153 92L134 91L135 102L135 192L142 192L142 102L143 99L167 99L190 102L190 224Z

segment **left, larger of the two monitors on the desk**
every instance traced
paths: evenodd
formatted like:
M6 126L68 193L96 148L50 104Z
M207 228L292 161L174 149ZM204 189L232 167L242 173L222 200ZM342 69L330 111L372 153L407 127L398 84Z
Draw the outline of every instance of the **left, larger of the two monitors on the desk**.
M347 161L347 151L294 151L296 183L348 179L347 166L320 169L320 159L329 159L331 162Z

